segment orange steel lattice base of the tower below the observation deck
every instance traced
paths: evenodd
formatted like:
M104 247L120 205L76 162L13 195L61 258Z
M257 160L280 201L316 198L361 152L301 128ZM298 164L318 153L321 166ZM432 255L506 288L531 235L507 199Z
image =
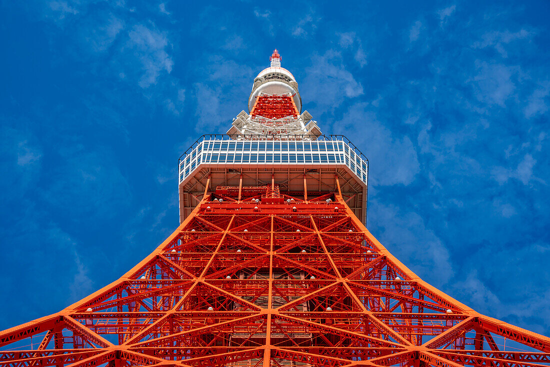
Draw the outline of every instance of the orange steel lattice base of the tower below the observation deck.
M205 193L118 281L0 347L11 366L550 364L549 338L422 281L339 192L274 184Z

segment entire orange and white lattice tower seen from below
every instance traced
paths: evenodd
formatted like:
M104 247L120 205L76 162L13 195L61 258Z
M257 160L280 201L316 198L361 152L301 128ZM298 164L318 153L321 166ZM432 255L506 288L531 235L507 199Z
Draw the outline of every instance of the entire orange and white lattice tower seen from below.
M119 280L0 332L0 364L550 365L550 338L461 304L368 232L367 158L323 135L277 50L270 62L249 112L180 157L174 233Z

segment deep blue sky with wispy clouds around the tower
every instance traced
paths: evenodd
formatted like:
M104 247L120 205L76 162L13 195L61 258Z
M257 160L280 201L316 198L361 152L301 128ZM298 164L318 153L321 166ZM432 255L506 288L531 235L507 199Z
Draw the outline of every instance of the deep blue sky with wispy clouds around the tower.
M177 161L273 48L370 160L368 228L461 302L550 335L550 3L0 2L0 329L178 225Z

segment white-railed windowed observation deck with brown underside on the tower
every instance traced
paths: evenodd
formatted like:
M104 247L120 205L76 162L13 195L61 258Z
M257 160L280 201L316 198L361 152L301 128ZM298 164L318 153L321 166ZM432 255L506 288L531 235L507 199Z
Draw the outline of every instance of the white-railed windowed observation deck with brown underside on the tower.
M274 184L304 198L308 193L340 189L351 210L365 223L365 155L344 135L303 139L303 135L201 136L178 162L180 222L202 195L217 187Z

